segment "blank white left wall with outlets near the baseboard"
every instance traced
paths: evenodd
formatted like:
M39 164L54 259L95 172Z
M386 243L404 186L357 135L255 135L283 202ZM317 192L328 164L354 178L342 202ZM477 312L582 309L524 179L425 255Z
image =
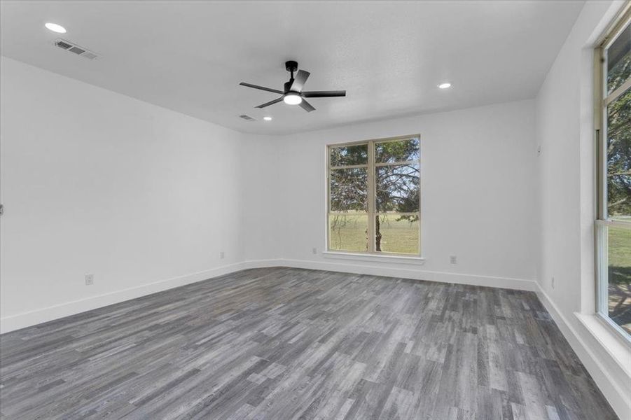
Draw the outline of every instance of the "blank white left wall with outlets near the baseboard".
M3 330L242 260L242 134L6 57L0 88Z

